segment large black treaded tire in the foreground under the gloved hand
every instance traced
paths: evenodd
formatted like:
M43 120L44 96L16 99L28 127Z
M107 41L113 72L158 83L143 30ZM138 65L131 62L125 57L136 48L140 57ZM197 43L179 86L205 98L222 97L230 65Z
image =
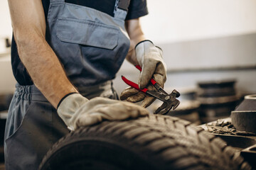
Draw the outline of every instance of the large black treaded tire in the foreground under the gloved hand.
M251 169L223 140L166 115L104 121L70 132L39 169Z

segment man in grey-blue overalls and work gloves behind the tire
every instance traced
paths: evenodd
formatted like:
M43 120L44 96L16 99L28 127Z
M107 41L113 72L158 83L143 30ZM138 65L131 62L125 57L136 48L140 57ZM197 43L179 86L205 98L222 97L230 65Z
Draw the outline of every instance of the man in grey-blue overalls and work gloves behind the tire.
M148 114L127 101L146 107L154 98L126 89L127 101L114 100L111 81L127 56L142 67L140 88L152 89L151 77L164 86L161 50L139 25L145 0L9 0L9 8L18 84L6 123L7 170L37 169L68 128Z

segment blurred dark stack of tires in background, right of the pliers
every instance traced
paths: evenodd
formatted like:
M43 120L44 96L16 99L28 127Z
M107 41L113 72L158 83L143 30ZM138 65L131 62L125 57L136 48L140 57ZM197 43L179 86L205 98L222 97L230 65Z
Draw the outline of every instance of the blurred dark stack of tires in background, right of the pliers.
M197 100L201 123L227 118L238 103L235 80L198 82Z

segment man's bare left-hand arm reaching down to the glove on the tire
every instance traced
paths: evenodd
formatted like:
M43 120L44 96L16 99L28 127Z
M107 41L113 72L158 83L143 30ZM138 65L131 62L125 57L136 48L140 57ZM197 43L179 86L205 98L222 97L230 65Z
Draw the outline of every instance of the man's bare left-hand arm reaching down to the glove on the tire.
M41 0L9 0L14 38L33 83L56 108L63 96L76 92L58 57L46 42L46 19Z

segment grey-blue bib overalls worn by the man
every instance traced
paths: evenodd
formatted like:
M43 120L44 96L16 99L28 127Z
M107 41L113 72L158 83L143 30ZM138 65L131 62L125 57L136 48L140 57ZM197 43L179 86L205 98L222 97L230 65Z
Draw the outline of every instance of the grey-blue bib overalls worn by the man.
M65 0L50 0L47 41L68 79L87 98L117 98L111 80L129 50L127 11L118 8L120 1L112 17ZM38 169L48 149L68 132L36 86L17 84L6 121L6 170Z

